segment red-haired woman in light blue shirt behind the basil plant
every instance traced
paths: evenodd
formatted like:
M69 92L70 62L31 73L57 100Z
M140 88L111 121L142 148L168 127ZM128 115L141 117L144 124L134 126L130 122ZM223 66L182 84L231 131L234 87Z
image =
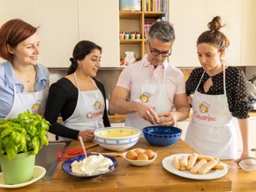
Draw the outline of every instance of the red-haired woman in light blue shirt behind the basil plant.
M0 28L0 118L17 117L26 109L43 114L49 70L38 62L37 27L11 19Z

